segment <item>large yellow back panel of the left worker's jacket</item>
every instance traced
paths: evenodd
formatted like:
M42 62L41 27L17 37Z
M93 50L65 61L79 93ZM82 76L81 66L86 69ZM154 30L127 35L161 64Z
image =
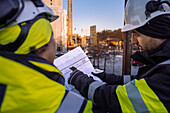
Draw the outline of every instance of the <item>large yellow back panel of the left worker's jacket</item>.
M0 83L7 85L1 113L54 113L65 87L42 73L0 56ZM5 64L5 65L4 65Z

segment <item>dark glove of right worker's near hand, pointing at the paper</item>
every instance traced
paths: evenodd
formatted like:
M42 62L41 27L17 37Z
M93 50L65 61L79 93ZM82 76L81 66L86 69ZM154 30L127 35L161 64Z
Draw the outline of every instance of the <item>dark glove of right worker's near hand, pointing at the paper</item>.
M68 83L75 86L75 88L80 92L82 96L88 98L89 85L95 80L93 80L91 77L88 77L86 74L75 67L71 67L70 69L73 72L70 73Z

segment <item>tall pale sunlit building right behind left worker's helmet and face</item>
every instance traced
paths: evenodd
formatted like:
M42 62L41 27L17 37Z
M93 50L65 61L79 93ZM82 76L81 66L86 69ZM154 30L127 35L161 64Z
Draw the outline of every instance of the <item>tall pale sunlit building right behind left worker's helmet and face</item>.
M54 39L58 52L67 51L67 11L63 9L63 0L43 0L59 18L52 22Z

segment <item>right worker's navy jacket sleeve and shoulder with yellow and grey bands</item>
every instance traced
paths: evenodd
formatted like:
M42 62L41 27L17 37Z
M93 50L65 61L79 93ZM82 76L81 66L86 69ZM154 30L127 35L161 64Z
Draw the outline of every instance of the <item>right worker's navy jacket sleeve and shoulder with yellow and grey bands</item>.
M170 112L170 60L155 67L125 85L92 82L88 98L109 112ZM78 80L77 80L78 81ZM86 81L78 82L82 84ZM83 90L82 90L83 91Z

